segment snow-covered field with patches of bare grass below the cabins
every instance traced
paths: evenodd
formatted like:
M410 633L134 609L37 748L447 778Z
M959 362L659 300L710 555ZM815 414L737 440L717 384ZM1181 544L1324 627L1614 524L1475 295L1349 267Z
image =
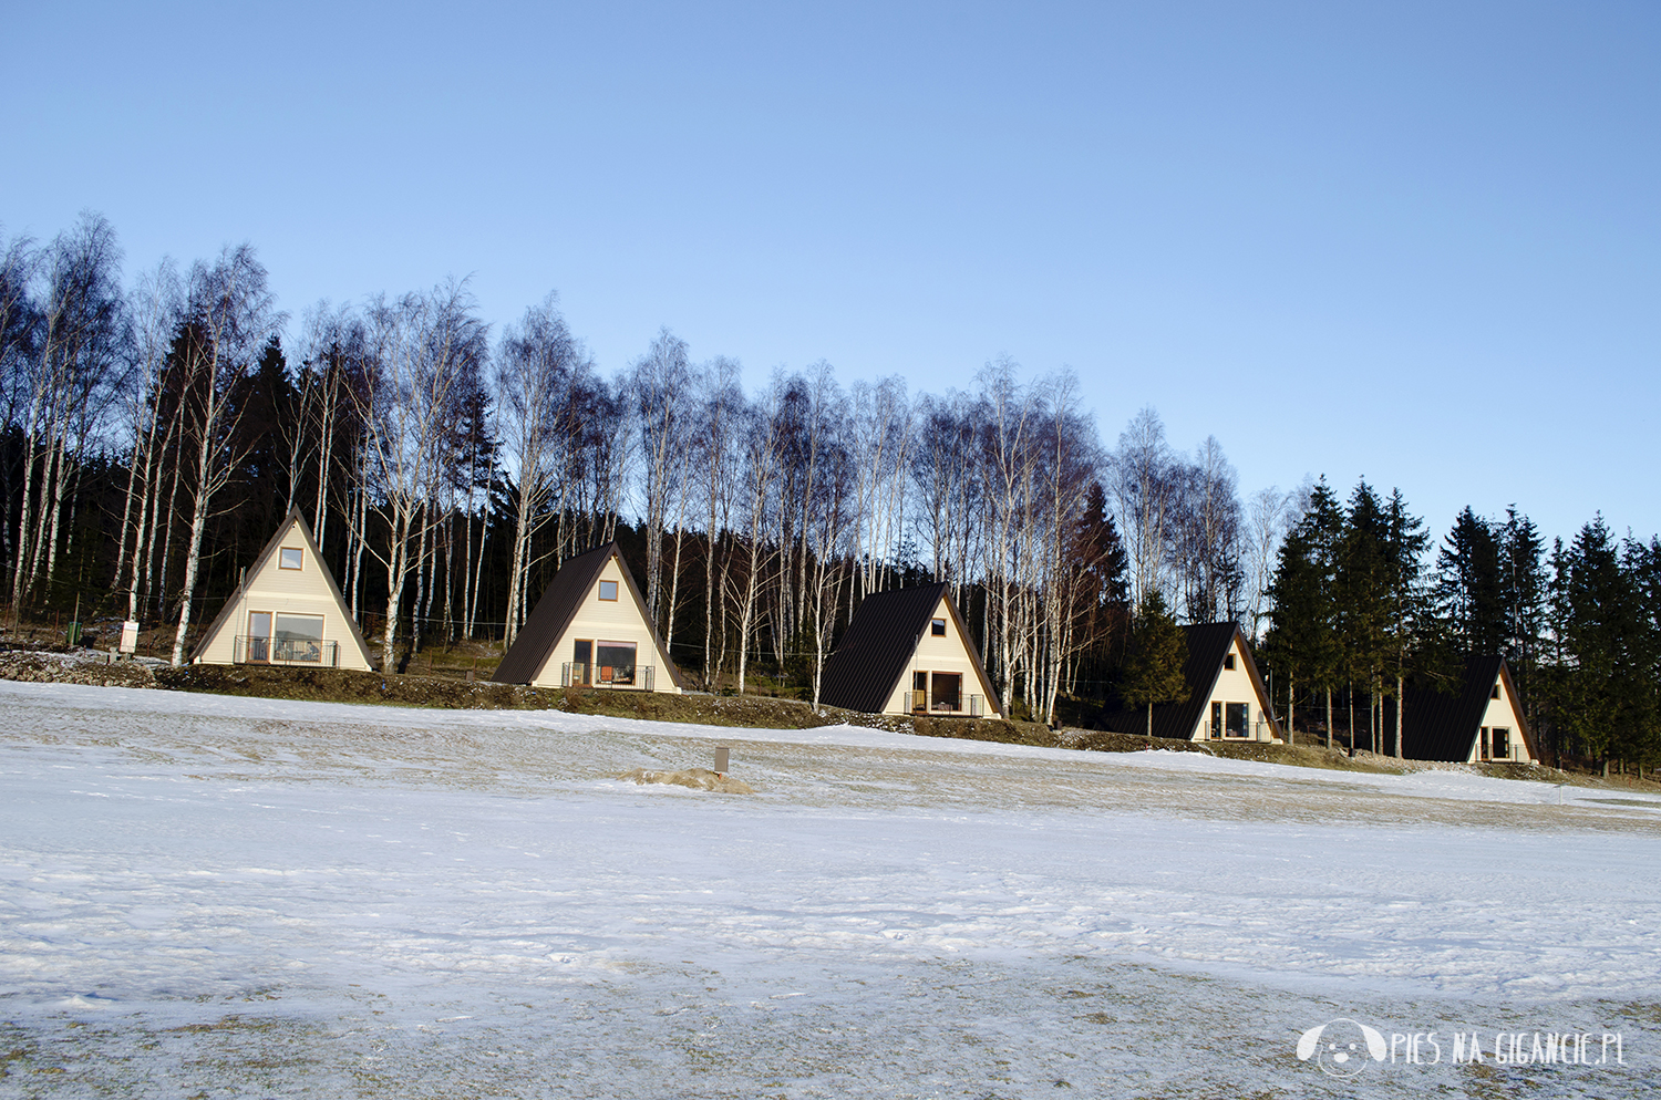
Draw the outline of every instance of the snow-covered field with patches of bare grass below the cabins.
M1463 771L0 682L0 1097L1656 1095L1658 866Z

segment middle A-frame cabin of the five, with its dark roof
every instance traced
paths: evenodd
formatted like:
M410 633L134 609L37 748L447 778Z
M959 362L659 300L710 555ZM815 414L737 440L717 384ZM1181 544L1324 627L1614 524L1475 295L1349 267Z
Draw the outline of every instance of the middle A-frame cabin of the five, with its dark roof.
M1003 715L943 582L867 596L826 659L819 702L867 713Z

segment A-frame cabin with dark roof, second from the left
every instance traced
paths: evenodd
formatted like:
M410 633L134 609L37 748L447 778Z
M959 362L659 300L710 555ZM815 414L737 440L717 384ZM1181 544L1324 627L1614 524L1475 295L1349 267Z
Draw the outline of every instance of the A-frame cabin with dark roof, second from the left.
M616 543L560 566L492 680L676 695L686 687Z

